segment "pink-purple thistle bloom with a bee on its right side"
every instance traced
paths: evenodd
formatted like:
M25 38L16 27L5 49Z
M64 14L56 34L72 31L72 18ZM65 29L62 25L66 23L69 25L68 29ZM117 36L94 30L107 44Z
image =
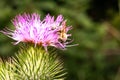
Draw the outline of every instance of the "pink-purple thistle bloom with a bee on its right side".
M10 38L19 42L29 42L35 45L41 45L46 50L48 46L54 46L59 49L65 49L68 37L67 32L71 27L66 26L66 21L62 15L56 19L49 14L41 21L36 13L17 15L12 23L15 30L2 31Z

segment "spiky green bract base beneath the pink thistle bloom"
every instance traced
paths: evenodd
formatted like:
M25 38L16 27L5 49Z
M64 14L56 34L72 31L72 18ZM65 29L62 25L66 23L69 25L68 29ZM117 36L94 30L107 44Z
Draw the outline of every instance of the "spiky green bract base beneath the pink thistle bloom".
M27 46L9 62L2 62L0 80L64 80L63 62L54 51Z

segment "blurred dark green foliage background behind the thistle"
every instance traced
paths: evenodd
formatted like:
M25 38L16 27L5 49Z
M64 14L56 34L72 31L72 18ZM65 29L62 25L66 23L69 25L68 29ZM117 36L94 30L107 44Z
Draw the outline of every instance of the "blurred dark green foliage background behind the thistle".
M66 80L120 80L120 2L118 0L0 0L0 29L13 28L19 13L62 14L72 25L72 44L58 51L68 69ZM18 46L0 33L0 55L12 56Z

